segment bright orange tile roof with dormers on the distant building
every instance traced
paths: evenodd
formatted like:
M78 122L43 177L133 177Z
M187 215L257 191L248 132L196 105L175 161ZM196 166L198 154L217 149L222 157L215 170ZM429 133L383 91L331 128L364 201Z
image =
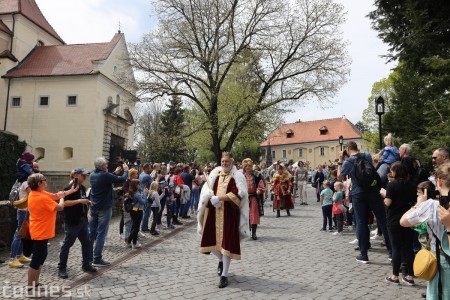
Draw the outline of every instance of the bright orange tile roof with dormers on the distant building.
M326 129L326 134L321 135L320 130ZM286 133L291 130L294 134L287 138ZM274 130L267 139L260 144L261 147L269 145L288 145L325 142L339 140L342 135L344 140L362 138L361 132L345 117L325 119L301 123L284 124Z

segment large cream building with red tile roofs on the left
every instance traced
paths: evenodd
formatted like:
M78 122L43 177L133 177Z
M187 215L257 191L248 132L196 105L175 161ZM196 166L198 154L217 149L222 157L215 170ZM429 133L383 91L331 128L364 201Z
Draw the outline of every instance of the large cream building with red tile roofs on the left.
M43 157L43 170L92 169L98 156L116 162L133 147L136 88L127 57L123 33L66 45L34 0L1 0L0 129Z

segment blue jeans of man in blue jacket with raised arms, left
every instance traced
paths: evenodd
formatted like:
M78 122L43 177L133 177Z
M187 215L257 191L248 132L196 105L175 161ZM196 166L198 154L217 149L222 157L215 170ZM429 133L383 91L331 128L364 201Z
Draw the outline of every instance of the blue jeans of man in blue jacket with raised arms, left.
M108 235L109 222L112 217L112 208L102 210L90 210L89 240L91 242L90 254L93 261L102 259L103 246ZM95 246L94 246L95 243Z

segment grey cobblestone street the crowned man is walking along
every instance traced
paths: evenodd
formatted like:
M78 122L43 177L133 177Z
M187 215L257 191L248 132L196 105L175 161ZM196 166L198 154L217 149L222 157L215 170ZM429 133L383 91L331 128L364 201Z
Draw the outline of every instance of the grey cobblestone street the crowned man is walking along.
M70 290L72 299L420 299L423 281L416 280L415 287L384 282L391 266L379 241L372 242L370 263L364 265L355 261L355 245L348 243L354 239L352 230L344 236L319 232L321 209L312 194L309 188L309 205L297 203L291 217L282 212L275 218L266 206L259 239L241 244L243 259L232 261L230 284L222 290L217 287L217 259L198 252L195 222L164 230L159 238L141 238L143 248L131 250L119 241L118 219L105 248L110 267L94 276L83 273L77 242L69 257L69 279L58 278L58 237L49 246L41 283ZM26 271L0 267L3 290L23 286Z

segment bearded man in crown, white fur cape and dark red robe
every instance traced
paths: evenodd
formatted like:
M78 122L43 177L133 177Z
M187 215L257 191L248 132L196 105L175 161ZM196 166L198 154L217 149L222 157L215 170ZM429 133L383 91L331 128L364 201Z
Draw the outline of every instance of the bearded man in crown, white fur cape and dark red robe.
M228 285L231 259L241 259L240 240L248 236L248 191L242 172L233 166L228 152L222 154L221 166L211 171L200 194L198 233L200 252L219 258L219 288Z

